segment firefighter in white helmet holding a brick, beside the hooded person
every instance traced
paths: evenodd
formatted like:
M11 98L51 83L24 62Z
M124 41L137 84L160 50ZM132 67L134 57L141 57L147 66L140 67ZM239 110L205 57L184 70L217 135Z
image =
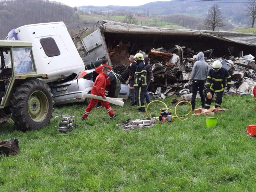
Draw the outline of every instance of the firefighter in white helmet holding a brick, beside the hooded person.
M227 69L222 68L222 64L219 60L212 63L212 69L209 70L208 76L206 78L205 88L206 93L211 92L212 97L214 93L217 94L215 101L215 108L220 107L222 103L222 95L226 86L227 79L227 92L229 92L231 86L231 76ZM205 109L211 107L212 99L206 97L204 104Z

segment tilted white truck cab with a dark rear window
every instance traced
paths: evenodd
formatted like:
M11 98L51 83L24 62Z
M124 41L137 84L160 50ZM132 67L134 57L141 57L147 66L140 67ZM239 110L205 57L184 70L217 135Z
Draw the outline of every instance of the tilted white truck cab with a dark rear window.
M48 79L42 79L45 83L64 79L85 69L63 22L25 25L12 29L6 39L32 43L37 73L48 76ZM24 56L22 54L20 52L20 57ZM15 60L19 58L14 58L14 63Z

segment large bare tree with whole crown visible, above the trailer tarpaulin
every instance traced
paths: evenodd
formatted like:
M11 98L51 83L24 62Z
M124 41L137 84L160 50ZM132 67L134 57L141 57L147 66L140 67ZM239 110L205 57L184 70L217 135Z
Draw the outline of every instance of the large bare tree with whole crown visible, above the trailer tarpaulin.
M216 28L223 27L223 17L221 15L220 7L218 4L212 5L208 11L208 16L204 21L204 26L207 29L212 29L213 31Z

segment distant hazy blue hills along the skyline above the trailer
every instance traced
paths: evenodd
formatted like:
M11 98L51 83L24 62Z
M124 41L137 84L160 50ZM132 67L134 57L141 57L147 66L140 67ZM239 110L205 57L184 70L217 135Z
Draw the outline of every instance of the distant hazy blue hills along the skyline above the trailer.
M151 2L148 4L134 6L81 6L78 7L79 10L85 12L108 12L108 11L118 11L123 12L130 11L140 13L142 16L159 16L159 15L170 15L170 14L185 14L193 17L205 17L207 15L208 9L214 3L210 2L189 2L189 1L165 1L165 2ZM239 25L244 25L249 22L249 19L244 14L245 5L244 3L228 3L219 2L218 3L223 17L228 22L236 23ZM237 11L239 10L239 11Z

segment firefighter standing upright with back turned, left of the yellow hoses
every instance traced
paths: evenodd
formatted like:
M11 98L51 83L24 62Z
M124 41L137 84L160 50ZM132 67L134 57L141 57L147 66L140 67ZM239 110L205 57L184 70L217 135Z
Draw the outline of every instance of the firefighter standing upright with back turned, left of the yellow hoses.
M136 63L137 63L137 68L134 73L134 87L136 91L136 99L138 102L138 110L145 112L145 105L144 105L144 100L145 100L145 92L147 88L147 71L146 71L146 66L143 62L144 57L143 54L137 53L134 56Z

